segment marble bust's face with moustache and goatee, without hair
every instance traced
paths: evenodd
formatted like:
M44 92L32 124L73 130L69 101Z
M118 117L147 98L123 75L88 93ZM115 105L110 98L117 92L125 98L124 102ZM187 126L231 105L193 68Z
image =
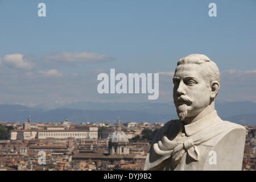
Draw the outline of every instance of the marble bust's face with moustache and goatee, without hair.
M210 84L204 67L199 64L179 65L174 74L174 104L181 120L199 114L210 104Z

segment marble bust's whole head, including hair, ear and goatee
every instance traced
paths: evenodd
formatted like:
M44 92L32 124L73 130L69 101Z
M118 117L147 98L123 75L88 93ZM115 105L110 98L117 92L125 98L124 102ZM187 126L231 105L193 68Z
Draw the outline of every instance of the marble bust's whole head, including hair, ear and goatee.
M220 72L209 57L192 54L177 62L174 73L174 104L181 121L213 105L220 89Z

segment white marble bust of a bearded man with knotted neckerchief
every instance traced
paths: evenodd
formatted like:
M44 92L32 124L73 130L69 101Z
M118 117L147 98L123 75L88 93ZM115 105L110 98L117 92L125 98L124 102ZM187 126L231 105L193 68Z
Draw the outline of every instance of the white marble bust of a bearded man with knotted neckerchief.
M217 65L205 55L188 55L178 61L173 82L179 119L156 133L144 170L241 170L246 130L222 121L214 109Z

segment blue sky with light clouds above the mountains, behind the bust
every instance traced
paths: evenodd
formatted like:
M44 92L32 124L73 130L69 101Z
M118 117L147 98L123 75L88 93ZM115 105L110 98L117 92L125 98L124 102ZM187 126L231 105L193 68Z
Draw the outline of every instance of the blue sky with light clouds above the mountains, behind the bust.
M38 16L40 2L46 17ZM208 16L211 2L217 17ZM97 74L173 72L191 53L220 68L220 100L256 102L255 19L254 0L0 1L0 102L147 102L144 94L98 94ZM83 52L92 60L74 58ZM13 54L24 57L7 63ZM170 80L160 75L163 94L155 102L172 101Z

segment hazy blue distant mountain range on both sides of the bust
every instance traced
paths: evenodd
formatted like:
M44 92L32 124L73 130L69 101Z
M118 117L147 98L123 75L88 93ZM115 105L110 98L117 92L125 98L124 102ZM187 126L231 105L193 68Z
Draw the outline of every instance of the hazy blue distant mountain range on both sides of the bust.
M0 105L0 121L24 122L32 115L32 122L60 122L68 118L71 122L110 122L118 117L123 122L167 122L176 119L173 103L100 103L75 102L56 109L45 106ZM256 125L256 103L217 102L216 110L222 119L242 125Z

